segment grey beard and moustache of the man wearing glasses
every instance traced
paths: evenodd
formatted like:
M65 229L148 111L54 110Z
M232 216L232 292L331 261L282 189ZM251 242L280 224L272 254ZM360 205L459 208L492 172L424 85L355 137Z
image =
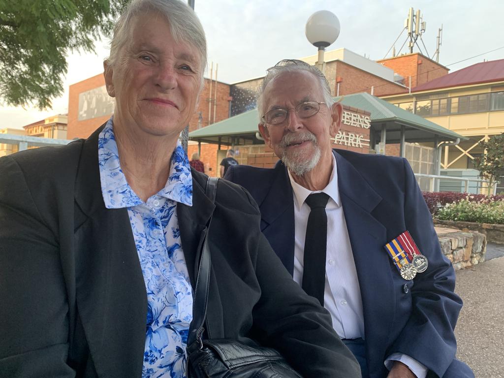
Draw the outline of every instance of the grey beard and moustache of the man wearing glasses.
M306 160L303 156L304 154L297 151L287 154L286 147L292 142L300 141L310 141L313 143L315 151L311 158ZM282 138L279 147L282 148L280 159L282 159L285 166L289 168L289 171L296 176L302 176L312 170L317 165L322 155L322 151L317 143L317 138L310 132L304 132L301 134L286 134Z

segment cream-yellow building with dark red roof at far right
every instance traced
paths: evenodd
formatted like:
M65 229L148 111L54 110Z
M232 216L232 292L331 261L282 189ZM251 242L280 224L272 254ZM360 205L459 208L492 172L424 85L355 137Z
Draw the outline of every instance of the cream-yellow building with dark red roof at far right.
M504 133L504 59L481 62L384 100L454 131L468 141L443 148L441 168L473 168L479 143Z

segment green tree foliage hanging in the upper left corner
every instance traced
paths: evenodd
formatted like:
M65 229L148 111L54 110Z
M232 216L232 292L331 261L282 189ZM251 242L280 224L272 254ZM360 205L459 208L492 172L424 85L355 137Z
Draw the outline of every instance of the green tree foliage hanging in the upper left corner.
M129 0L0 0L0 99L51 107L70 51L94 51Z

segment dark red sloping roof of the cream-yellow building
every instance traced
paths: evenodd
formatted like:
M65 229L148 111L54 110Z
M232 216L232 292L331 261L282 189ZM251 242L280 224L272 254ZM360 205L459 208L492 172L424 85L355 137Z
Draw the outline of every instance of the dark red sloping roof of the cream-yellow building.
M411 89L412 92L504 81L504 59L483 61Z

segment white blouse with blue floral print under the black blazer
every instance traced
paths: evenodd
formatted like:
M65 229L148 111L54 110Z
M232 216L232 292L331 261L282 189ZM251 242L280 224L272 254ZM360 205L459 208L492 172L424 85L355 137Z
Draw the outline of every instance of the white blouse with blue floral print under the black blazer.
M128 208L147 290L142 378L183 378L193 289L180 242L177 202L193 205L193 178L180 142L166 185L143 202L122 173L110 118L98 140L101 191L107 209Z

